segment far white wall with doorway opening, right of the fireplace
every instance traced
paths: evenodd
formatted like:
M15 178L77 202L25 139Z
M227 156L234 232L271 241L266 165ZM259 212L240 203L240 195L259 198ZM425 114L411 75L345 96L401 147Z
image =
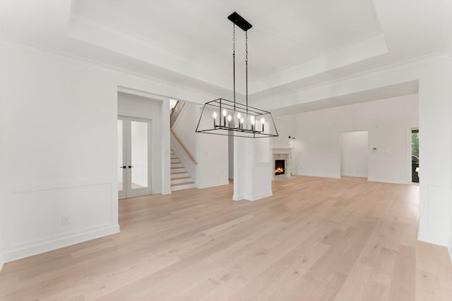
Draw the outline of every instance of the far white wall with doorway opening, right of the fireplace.
M369 132L369 180L410 183L408 128L418 125L418 96L382 99L295 116L300 175L340 178L340 134ZM389 154L385 154L389 152Z

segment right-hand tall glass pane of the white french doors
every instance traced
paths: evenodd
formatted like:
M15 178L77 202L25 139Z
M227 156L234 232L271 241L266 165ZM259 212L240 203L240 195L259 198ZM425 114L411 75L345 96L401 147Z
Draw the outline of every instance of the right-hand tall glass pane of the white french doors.
M131 122L132 189L148 187L148 123Z

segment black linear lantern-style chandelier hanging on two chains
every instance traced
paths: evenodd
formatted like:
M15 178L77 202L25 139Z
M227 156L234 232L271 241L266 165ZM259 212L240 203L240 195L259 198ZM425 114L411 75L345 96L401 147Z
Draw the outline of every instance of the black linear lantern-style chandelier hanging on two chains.
M248 105L248 30L253 25L236 12L227 18L234 23L232 29L234 101L219 98L206 102L199 117L196 133L250 138L278 137L271 113ZM246 104L235 102L235 25L245 32Z

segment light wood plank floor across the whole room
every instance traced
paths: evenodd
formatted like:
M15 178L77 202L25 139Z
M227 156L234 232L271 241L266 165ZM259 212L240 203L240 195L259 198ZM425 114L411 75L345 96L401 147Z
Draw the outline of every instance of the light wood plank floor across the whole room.
M122 199L121 233L8 263L0 300L452 300L418 186L296 177Z

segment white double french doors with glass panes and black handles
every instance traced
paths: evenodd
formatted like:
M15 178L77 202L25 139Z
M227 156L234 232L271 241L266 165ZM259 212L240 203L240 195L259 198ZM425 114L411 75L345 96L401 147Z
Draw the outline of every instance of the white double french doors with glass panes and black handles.
M118 116L118 195L149 195L150 121Z

